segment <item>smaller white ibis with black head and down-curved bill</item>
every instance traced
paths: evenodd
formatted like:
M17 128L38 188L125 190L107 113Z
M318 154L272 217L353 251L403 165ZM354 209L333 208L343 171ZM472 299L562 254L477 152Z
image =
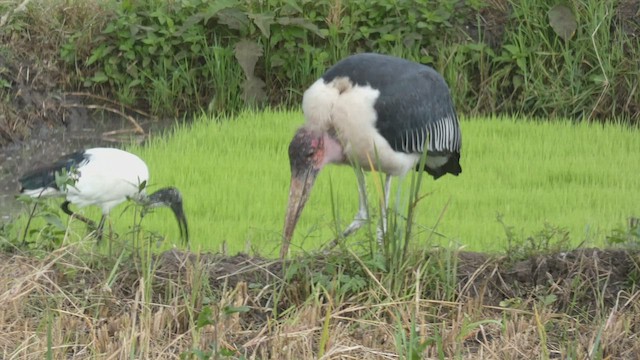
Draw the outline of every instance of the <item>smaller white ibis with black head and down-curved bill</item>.
M68 173L72 184L61 187L56 183L56 176L62 171ZM175 187L167 187L147 196L145 187L148 181L147 164L138 156L115 148L77 151L50 165L31 170L19 180L21 194L33 198L65 197L62 210L95 228L98 240L102 237L104 223L111 209L127 199L142 204L143 214L153 207L168 206L178 220L182 241L188 244L189 230L180 192ZM99 206L102 218L98 226L92 220L71 211L69 204L80 208Z

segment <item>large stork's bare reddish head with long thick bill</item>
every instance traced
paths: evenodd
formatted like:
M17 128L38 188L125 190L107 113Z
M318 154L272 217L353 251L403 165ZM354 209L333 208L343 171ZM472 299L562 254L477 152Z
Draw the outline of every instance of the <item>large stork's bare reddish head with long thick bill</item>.
M293 231L309 198L318 172L326 164L341 162L343 158L342 146L336 140L333 132L302 127L291 140L289 144L291 185L282 248L280 249L281 258L287 255Z

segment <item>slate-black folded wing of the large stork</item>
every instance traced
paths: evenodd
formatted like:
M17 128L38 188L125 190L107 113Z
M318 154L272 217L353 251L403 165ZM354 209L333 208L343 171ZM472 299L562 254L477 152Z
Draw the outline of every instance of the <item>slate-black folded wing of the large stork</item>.
M446 162L427 167L427 172L438 178L462 171L458 117L449 87L433 68L386 55L359 54L338 62L323 79L340 76L380 91L374 105L376 128L395 151L422 153L428 142L428 155Z

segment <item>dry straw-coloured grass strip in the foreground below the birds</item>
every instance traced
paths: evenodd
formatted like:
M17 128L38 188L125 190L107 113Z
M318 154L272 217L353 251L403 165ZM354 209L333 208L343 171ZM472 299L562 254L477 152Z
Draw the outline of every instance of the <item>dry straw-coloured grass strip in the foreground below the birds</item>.
M118 262L79 249L44 258L0 255L2 358L599 359L640 353L633 253L577 250L515 264L458 253L455 295L437 299L431 295L442 293L443 284L425 269L431 261L406 268L403 292L385 288L385 275L371 269L375 281L341 292L319 280L333 276L329 284L336 284L340 276L322 273L322 257L297 259L309 266L284 281L291 263L243 255L169 251L148 262ZM538 270L524 265L532 263Z

